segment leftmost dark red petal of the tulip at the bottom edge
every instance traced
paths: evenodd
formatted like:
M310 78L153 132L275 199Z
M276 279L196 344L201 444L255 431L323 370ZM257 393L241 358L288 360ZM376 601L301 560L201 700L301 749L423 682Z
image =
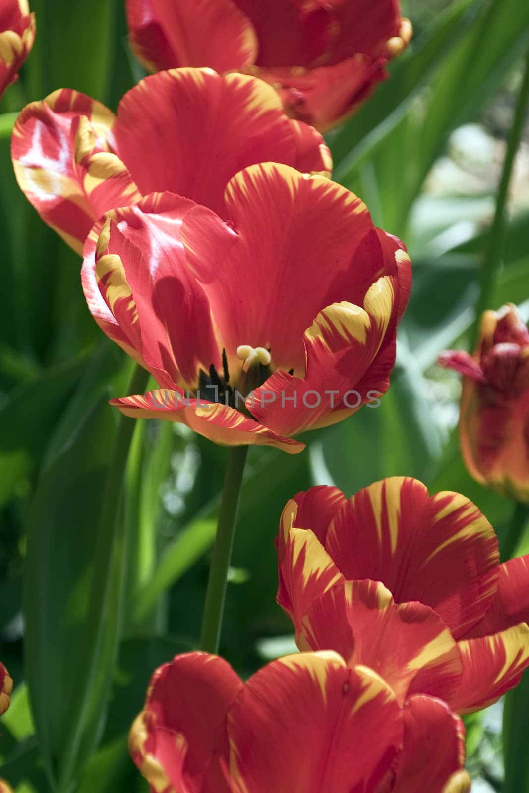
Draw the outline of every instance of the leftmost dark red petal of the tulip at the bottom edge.
M132 759L155 791L229 793L220 760L228 756L227 714L242 688L232 667L207 653L179 655L157 669L129 737Z

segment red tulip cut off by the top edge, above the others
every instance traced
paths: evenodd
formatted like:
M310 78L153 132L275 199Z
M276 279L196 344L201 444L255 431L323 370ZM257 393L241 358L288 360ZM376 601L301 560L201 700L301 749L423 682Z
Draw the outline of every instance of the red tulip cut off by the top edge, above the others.
M398 0L127 0L149 71L209 66L270 82L289 116L327 129L387 77L412 26Z

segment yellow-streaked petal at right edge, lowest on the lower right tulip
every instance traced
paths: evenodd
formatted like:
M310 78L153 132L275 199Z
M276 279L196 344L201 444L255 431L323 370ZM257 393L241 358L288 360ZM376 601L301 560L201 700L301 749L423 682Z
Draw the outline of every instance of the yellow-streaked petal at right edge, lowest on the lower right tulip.
M481 711L519 684L529 666L529 627L520 623L493 636L458 642L463 677L450 707L458 713Z

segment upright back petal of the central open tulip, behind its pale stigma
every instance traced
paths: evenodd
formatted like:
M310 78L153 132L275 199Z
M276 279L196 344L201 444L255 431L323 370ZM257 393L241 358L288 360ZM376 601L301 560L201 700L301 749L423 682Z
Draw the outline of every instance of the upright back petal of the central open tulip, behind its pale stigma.
M366 206L326 178L277 163L241 171L225 198L235 232L197 207L182 224L182 241L226 351L265 347L274 369L305 374L304 333L314 317L336 301L363 302L385 269L379 255L356 259L374 234ZM236 305L243 310L234 312Z

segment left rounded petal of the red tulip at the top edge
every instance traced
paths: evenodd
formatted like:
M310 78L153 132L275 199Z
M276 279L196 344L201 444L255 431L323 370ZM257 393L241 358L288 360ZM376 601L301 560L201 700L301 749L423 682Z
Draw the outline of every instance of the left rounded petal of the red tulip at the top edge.
M232 0L127 0L126 9L132 49L150 71L231 71L255 59L255 31Z

